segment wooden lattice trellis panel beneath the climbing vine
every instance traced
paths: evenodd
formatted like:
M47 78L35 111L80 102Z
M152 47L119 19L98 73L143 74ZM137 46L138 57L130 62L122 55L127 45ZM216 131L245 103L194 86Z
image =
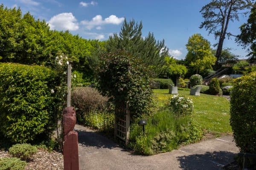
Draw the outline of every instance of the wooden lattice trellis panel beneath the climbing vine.
M125 145L128 144L130 135L130 111L128 103L125 108L116 109L115 116L115 137L122 139Z

